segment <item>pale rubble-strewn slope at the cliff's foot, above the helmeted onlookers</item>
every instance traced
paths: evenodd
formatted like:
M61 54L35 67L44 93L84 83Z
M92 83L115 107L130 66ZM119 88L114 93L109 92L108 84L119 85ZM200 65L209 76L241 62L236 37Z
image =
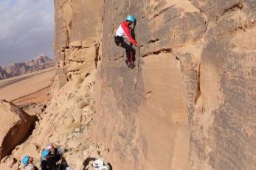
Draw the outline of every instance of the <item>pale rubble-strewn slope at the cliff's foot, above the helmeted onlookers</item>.
M41 105L26 107L27 113L38 116L35 130L23 144L13 149L12 155L4 157L0 169L22 169L18 163L24 155L35 158L39 168L41 150L50 142L65 149L64 157L74 170L85 169L84 161L88 157L108 155L104 143L94 143L94 83L95 71L86 77L73 77L63 88L58 89L55 79L52 85L52 101ZM108 161L106 161L108 163Z

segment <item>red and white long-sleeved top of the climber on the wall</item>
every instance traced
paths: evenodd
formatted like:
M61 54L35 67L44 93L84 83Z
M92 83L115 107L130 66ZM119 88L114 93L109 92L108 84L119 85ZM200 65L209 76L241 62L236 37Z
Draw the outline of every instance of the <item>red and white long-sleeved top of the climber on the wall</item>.
M116 36L122 38L128 38L128 40L134 45L138 44L134 38L131 37L130 27L128 26L128 22L124 21L117 29Z

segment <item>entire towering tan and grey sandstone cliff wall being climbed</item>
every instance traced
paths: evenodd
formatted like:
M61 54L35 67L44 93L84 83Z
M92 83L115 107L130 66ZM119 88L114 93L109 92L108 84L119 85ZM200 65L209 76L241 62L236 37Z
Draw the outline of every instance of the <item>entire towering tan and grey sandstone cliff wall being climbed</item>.
M55 0L55 8L60 79L86 74L102 52L94 140L109 147L114 169L255 169L256 1ZM113 40L129 13L144 44L133 70Z

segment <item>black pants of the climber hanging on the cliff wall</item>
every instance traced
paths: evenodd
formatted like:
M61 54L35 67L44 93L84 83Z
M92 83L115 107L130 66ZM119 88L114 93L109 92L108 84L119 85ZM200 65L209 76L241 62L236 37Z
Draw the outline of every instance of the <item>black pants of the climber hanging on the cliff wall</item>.
M114 42L117 44L117 46L122 46L122 48L125 49L126 57L130 63L134 63L135 60L135 49L130 46L128 43L125 43L124 39L122 37L115 36Z

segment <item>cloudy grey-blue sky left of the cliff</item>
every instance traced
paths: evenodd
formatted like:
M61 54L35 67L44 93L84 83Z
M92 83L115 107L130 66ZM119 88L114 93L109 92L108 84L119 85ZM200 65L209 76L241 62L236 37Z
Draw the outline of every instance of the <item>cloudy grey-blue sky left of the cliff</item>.
M0 66L53 57L53 0L0 0Z

